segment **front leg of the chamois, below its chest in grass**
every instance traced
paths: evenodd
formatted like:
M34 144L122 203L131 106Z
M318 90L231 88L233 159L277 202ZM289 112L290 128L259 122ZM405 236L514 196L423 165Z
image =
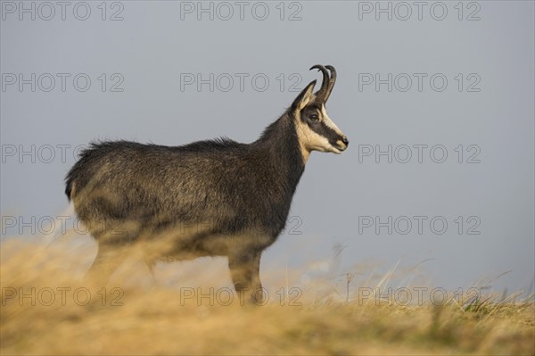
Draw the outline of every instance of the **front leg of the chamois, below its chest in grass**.
M260 283L260 255L261 253L233 254L228 256L228 268L240 296L240 302L262 304L264 293Z

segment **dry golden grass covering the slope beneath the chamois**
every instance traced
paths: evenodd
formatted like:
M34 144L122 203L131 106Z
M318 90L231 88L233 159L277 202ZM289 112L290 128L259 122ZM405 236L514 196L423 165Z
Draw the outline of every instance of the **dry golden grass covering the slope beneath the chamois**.
M196 290L198 284L187 284L195 280L194 268L185 273L190 276L182 273L183 280L177 272L175 285L160 270L154 285L148 273L127 266L106 286L107 294L92 290L91 300L78 305L85 304L86 294L79 293L78 299L73 294L85 287L81 277L93 257L62 244L3 243L2 354L535 353L532 302L401 306L305 295L300 306L287 301L281 306L272 292L261 307L237 301L221 305L223 294L213 306L208 298L198 306L178 287ZM226 270L218 273L212 276L219 281L216 287L227 286L221 277ZM266 273L262 271L263 277ZM118 289L112 290L114 286ZM210 285L202 287L207 291ZM22 293L29 296L21 299ZM50 302L52 294L55 300Z

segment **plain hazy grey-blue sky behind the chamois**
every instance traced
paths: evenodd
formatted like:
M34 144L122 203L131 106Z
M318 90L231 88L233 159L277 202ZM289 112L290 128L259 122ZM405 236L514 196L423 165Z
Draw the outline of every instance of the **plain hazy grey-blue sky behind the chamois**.
M78 145L119 138L183 145L218 136L251 142L299 89L320 79L311 65L332 64L339 79L328 112L349 149L312 154L293 218L262 269L304 266L303 284L314 273L334 280L355 272L363 283L399 266L407 278L449 289L511 271L491 287L532 288L533 2L426 2L420 14L413 2L381 2L391 20L376 2L202 2L213 20L198 2L69 2L64 20L55 2L1 4L3 237L46 235L50 217L64 215L63 178ZM198 74L210 81L210 73L213 91L185 81ZM391 91L386 82L366 84L389 73ZM29 84L19 87L20 74ZM403 91L407 77L412 87ZM389 145L391 162L364 154ZM412 158L401 163L405 145ZM421 162L414 145L427 145ZM430 157L435 145L442 146ZM444 149L447 159L435 162ZM426 217L421 234L414 216ZM392 233L366 228L366 217L392 217ZM412 221L405 235L407 219L396 225L399 217ZM447 221L443 234L432 231L433 217L440 217L435 231Z

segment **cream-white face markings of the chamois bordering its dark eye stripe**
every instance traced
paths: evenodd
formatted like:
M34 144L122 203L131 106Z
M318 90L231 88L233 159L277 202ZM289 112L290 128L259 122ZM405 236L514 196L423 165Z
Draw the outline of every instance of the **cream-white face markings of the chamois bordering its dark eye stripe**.
M309 100L307 100L309 102ZM303 105L304 107L305 105ZM321 105L321 112L319 112L320 120L328 127L333 129L338 135L343 136L340 128L329 118L325 110L325 105ZM342 153L342 150L334 147L329 143L329 140L326 137L323 137L317 134L316 131L309 128L306 122L298 118L296 120L297 135L300 141L300 149L303 155L304 161L309 159L309 155L312 151L319 152L331 152L331 153ZM338 142L337 142L338 143ZM341 143L342 144L342 143Z

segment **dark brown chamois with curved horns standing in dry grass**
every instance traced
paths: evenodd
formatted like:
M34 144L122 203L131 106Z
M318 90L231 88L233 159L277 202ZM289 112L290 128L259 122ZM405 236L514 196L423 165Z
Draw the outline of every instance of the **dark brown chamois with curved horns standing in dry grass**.
M143 260L226 256L236 292L261 302L261 253L284 228L292 196L312 151L342 153L349 145L327 116L336 71L314 65L313 80L258 140L227 138L189 145L92 143L65 178L65 194L98 243L86 277L105 283L128 257L120 247L143 244Z

